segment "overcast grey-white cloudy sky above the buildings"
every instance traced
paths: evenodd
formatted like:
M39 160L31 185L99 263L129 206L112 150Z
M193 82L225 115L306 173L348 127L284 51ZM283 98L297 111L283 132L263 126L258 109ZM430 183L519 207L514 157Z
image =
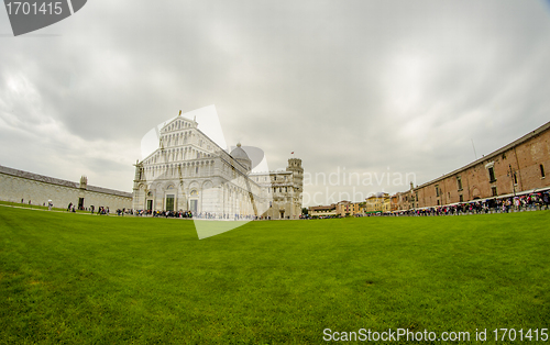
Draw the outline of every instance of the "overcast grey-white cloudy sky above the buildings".
M271 168L420 185L550 120L550 3L90 0L18 37L0 9L0 165L131 191L143 135L210 104Z

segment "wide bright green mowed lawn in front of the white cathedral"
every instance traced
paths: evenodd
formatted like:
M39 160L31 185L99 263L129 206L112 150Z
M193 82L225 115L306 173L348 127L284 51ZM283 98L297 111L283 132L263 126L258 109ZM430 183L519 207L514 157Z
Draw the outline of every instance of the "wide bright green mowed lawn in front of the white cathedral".
M0 207L0 343L547 329L549 222L548 211L264 221L198 241L191 221Z

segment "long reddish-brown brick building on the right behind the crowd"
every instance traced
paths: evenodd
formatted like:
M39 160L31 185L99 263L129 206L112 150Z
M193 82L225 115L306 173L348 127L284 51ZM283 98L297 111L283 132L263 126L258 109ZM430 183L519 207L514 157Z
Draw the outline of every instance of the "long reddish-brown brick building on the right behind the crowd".
M409 210L550 189L550 122L440 178L392 197Z

